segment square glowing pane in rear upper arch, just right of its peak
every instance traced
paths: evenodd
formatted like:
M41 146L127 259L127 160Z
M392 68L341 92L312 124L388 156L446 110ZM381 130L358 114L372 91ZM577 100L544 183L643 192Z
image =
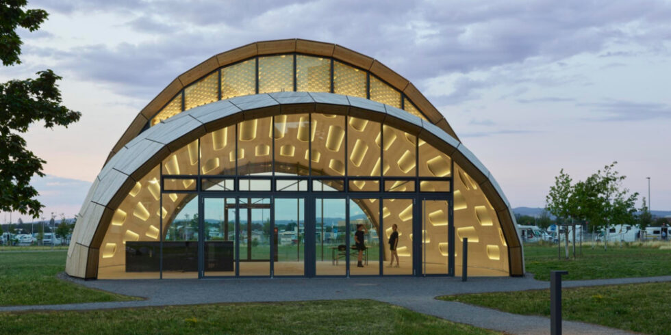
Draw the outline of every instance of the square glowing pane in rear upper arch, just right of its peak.
M296 55L296 90L331 92L331 59Z

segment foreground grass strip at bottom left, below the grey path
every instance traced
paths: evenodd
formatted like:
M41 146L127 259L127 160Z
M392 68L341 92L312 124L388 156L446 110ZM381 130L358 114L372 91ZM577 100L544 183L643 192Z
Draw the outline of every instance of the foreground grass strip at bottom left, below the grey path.
M0 313L7 334L498 334L371 300Z

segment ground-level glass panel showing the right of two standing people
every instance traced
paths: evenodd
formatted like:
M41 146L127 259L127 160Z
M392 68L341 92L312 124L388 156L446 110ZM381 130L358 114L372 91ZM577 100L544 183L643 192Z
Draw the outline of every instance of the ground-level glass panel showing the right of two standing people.
M412 275L412 199L384 199L382 203L384 227L385 275ZM396 230L394 230L396 225ZM396 231L396 239L392 235ZM390 238L395 251L390 250ZM392 264L392 256L394 264ZM397 261L398 260L398 261Z

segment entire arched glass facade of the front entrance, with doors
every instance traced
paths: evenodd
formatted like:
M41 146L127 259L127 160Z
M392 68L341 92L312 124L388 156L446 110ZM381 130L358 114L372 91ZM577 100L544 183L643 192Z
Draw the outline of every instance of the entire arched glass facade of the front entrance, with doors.
M496 211L422 138L351 116L268 116L210 131L138 181L98 278L453 275L464 237L469 273L507 275Z

